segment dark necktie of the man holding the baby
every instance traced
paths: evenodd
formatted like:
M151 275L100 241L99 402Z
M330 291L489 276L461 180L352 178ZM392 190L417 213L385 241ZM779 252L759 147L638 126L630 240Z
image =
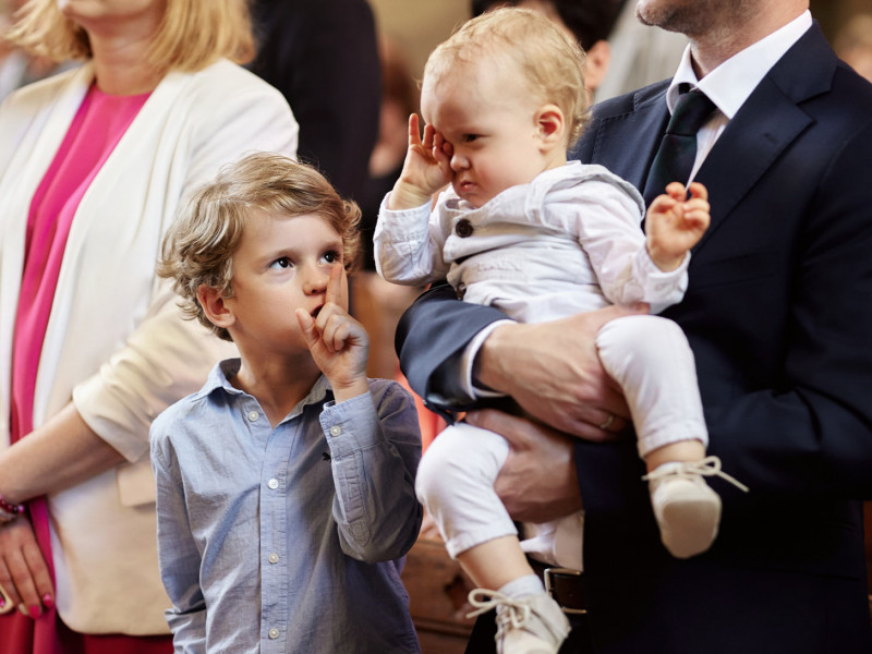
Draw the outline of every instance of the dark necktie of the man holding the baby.
M687 88L688 85L682 84L681 87ZM697 159L697 132L714 110L715 104L701 90L681 90L647 173L643 193L646 205L664 193L669 182L687 184Z

